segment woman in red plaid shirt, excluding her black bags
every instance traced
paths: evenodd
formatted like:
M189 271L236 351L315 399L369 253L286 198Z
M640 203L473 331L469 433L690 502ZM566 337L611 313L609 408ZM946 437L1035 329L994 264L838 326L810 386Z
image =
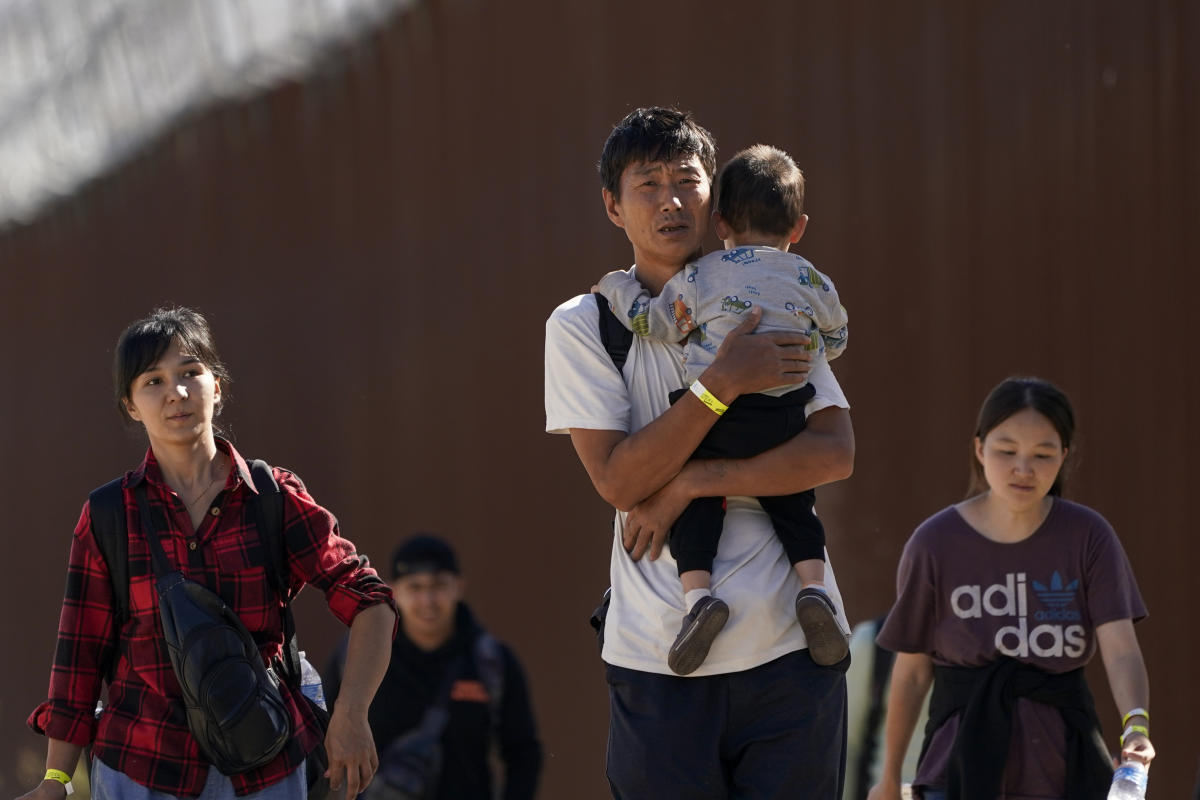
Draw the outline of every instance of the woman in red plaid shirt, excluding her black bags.
M282 601L266 579L258 530L244 507L254 483L233 445L214 433L229 375L208 323L188 308L157 309L133 323L118 342L113 377L122 415L139 422L150 439L145 459L122 481L130 613L125 620L115 613L109 571L84 504L71 543L48 699L29 717L30 727L49 738L47 777L20 800L61 800L88 745L96 800L304 798L304 762L319 744L320 730L302 698L283 682L293 736L272 762L251 772L221 775L187 728L162 638L150 549L134 495L142 483L167 521L161 535L174 567L222 596L264 660L280 655L283 644ZM334 615L350 626L346 678L325 746L331 786L344 784L344 796L353 798L378 766L367 709L388 668L395 604L388 585L338 534L334 516L295 475L274 471L283 497L289 583L294 591L314 585ZM101 681L109 674L108 705L96 717Z

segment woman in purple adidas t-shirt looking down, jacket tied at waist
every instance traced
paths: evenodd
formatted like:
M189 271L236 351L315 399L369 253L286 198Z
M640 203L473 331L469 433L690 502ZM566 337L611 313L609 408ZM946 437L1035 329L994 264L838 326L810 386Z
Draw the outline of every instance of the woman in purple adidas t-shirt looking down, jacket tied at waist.
M1074 427L1069 401L1044 380L1010 378L984 401L972 495L913 533L878 634L898 655L883 780L870 800L900 796L931 685L919 796L1103 796L1112 768L1082 674L1097 649L1128 712L1122 758L1154 757L1138 584L1108 522L1062 498Z

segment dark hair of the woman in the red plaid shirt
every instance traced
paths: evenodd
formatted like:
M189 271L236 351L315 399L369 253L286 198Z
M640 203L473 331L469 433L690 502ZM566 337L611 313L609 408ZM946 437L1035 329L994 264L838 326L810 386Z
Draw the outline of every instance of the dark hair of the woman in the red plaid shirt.
M179 342L179 348L199 359L216 378L221 379L221 399L214 409L214 416L221 413L222 401L228 396L224 391L232 381L229 371L217 354L212 342L212 332L204 315L182 306L155 308L145 319L130 323L116 339L116 353L113 355L113 391L116 395L116 408L121 419L131 422L125 401L130 398L130 386L133 379L157 363L162 354L170 348L172 342Z

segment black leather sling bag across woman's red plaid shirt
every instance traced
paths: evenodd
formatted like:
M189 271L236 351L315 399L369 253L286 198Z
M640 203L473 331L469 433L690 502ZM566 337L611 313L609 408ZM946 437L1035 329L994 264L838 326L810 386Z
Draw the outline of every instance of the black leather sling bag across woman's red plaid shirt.
M154 563L163 640L184 693L187 727L222 774L265 766L292 735L280 681L263 663L238 614L208 587L170 567L144 483L137 498Z

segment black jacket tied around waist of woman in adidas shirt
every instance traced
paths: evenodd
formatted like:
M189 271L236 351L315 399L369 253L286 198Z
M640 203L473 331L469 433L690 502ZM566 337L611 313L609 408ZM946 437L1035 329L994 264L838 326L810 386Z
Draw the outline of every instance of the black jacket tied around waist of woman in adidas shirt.
M1021 697L1057 708L1067 724L1067 800L1103 798L1112 766L1082 668L1055 674L1002 657L984 667L934 667L922 758L934 732L962 712L946 774L947 800L1000 796Z

